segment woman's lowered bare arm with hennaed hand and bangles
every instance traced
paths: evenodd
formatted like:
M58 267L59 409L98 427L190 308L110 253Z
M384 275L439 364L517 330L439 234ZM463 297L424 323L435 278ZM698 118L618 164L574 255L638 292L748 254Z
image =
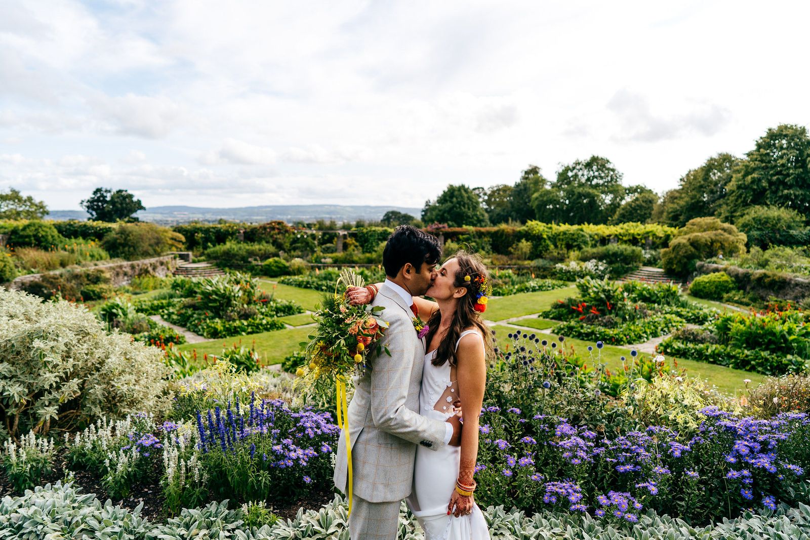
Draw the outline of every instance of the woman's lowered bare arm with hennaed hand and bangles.
M481 406L484 404L484 388L487 379L487 365L484 359L484 342L479 336L467 334L458 344L458 396L461 398L464 427L461 432L461 463L458 466L458 481L471 486L478 458L478 424ZM453 491L448 512L456 517L472 509L475 504L472 496L459 495Z

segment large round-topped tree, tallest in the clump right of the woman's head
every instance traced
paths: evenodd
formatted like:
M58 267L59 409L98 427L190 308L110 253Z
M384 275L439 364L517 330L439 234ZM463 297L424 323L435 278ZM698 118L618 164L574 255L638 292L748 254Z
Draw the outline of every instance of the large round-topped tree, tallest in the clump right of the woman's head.
M621 178L607 158L578 159L563 165L552 185L535 192L531 207L536 218L547 223L608 223L625 198Z

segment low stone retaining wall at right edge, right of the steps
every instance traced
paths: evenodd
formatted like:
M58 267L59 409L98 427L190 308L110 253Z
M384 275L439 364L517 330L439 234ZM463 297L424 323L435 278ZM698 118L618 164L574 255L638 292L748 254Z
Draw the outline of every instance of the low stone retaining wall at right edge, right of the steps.
M698 262L695 270L698 275L725 272L734 279L741 291L753 292L762 300L768 300L770 296L796 302L810 298L810 279L799 278L793 274L771 270L750 270L740 268L740 266L717 265L710 262Z

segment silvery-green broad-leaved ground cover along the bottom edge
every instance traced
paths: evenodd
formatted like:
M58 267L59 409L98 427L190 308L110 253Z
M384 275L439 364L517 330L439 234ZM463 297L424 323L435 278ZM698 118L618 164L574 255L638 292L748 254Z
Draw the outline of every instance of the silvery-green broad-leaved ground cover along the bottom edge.
M127 538L170 540L173 538L235 538L237 540L348 540L347 508L339 497L317 510L298 512L290 520L279 520L261 528L245 525L241 510L228 509L228 501L211 503L195 510L183 509L165 523L152 523L134 509L103 504L92 493L83 494L71 483L36 487L21 497L0 501L0 538ZM417 540L423 533L403 504L397 540ZM680 519L647 512L638 523L617 525L588 514L542 512L527 516L502 507L486 508L492 540L752 540L753 538L810 538L810 507L780 506L775 512L758 509L744 516L710 525L693 525Z

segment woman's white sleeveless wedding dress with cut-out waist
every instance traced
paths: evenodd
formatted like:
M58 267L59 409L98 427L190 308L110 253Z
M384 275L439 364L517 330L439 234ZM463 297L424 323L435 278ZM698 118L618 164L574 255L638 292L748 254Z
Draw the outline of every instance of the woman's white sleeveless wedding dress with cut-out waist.
M458 342L467 334L481 337L478 331L467 330L459 336ZM424 355L420 414L445 421L454 414L453 402L458 397L458 385L456 381L450 381L450 362L434 366L432 360L435 356L435 350ZM424 529L425 540L489 540L487 522L477 504L466 516L447 515L447 505L458 478L459 461L461 448L458 446L447 444L438 450L421 445L416 447L413 489L407 505Z

